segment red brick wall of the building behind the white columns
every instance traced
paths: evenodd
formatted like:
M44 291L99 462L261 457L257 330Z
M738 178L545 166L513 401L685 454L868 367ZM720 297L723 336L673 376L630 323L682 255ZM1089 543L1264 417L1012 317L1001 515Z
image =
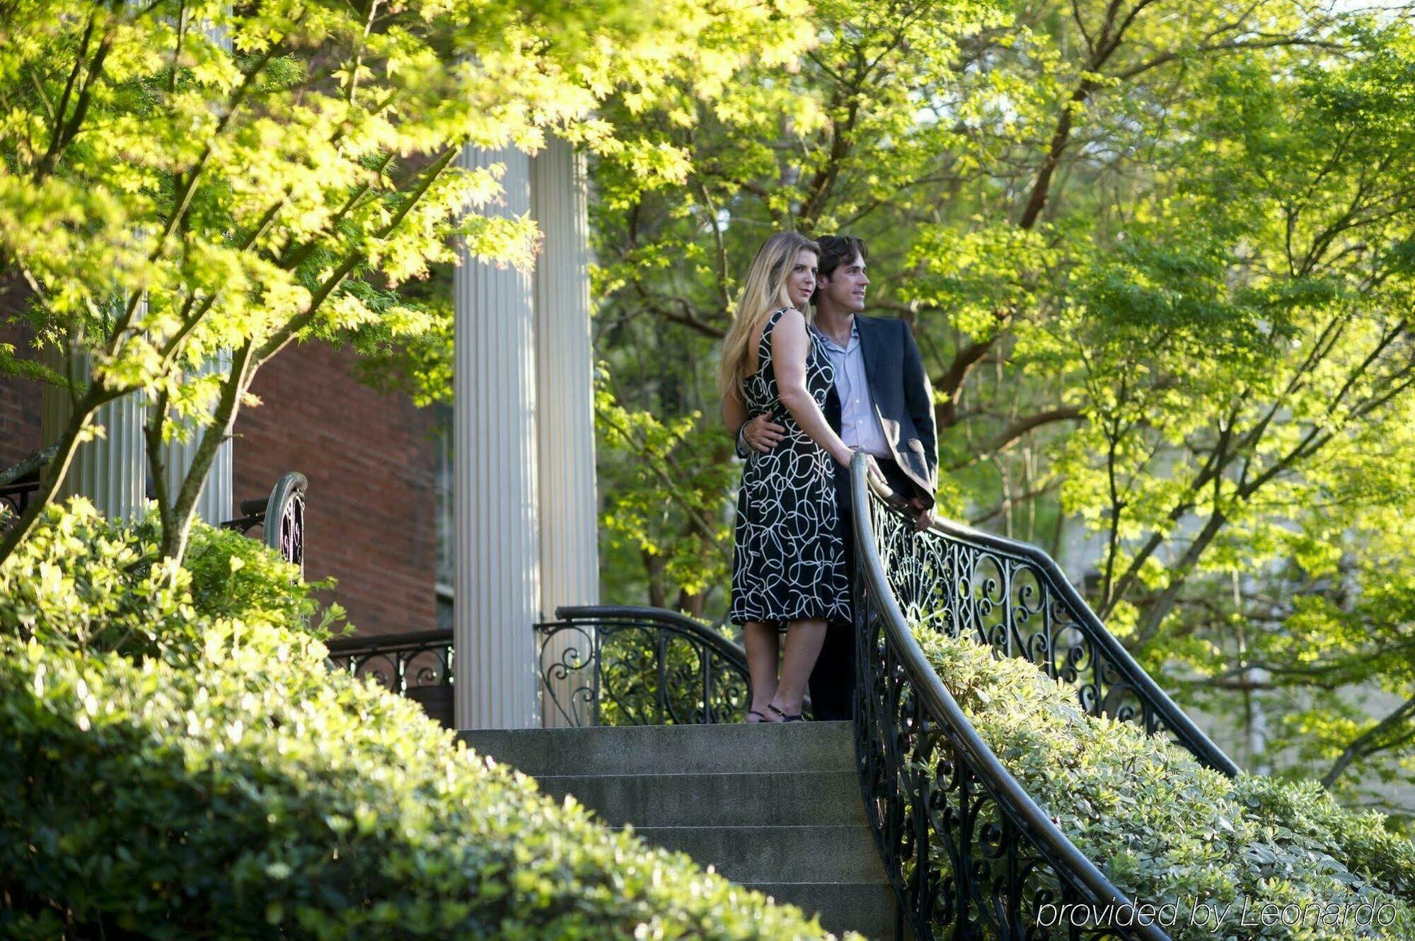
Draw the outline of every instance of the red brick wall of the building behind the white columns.
M33 355L20 328L0 344ZM361 634L436 625L436 446L430 410L359 383L354 355L290 347L252 385L262 405L236 419L235 500L260 497L286 471L310 480L306 573L333 591ZM40 385L0 378L0 467L40 446ZM235 514L233 514L235 515Z

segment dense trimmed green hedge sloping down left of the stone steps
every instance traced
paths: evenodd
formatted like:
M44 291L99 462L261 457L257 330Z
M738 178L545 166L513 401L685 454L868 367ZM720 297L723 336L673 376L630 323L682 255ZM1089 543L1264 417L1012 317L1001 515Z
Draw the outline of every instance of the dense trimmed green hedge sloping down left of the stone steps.
M0 566L0 935L828 937L327 671L252 541L151 535L75 502Z

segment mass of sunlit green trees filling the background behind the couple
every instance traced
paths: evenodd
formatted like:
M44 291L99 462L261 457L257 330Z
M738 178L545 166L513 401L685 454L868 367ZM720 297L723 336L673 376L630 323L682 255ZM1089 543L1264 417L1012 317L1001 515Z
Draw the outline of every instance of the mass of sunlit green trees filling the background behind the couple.
M798 68L642 129L685 184L597 161L600 355L644 376L625 406L722 436L681 364L712 361L756 246L865 236L872 313L925 355L949 515L1053 550L1070 526L1125 642L1211 705L1258 696L1269 758L1334 787L1408 774L1409 628L1381 573L1409 556L1368 536L1409 509L1405 13L818 4ZM1309 583L1340 617L1274 604ZM1343 669L1255 679L1279 648ZM1358 717L1368 688L1404 706Z

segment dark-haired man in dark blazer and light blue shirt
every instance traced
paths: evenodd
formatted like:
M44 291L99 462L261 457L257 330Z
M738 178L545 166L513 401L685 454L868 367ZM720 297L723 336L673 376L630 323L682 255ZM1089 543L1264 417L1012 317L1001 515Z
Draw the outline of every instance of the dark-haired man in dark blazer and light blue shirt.
M938 443L934 436L934 396L924 361L908 324L897 318L866 317L865 273L869 249L852 235L828 235L821 246L819 275L811 304L816 331L835 366L835 395L825 417L841 439L874 458L894 492L920 511L927 524L938 487ZM758 415L737 432L737 453L770 451L785 427L774 415ZM850 525L850 473L835 474L846 562L855 572ZM848 624L832 624L825 648L811 674L811 705L816 719L849 719L855 703L855 638Z

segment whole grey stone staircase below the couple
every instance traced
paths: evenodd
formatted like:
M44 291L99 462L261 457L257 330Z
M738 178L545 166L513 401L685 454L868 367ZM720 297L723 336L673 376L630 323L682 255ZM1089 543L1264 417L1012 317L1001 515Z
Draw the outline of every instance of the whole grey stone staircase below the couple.
M573 794L611 826L836 934L894 940L894 893L865 819L846 722L463 732L477 751Z

